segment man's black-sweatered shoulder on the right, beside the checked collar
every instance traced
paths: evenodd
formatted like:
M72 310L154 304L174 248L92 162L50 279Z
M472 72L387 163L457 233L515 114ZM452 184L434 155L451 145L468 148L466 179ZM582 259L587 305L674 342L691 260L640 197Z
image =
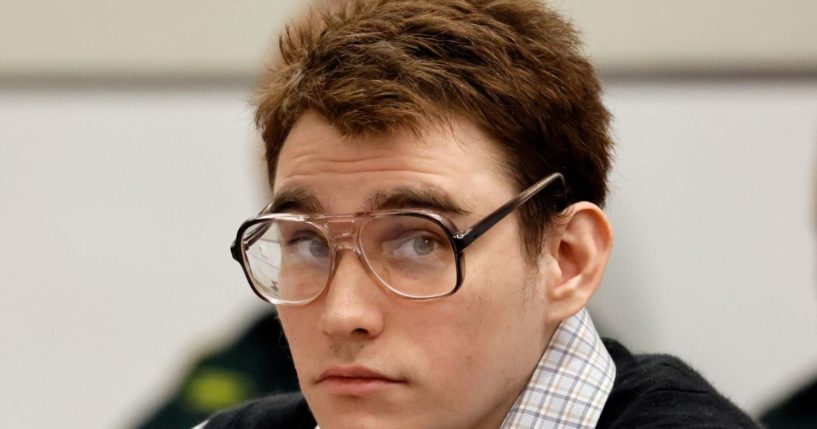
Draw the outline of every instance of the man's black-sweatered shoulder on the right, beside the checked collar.
M616 364L599 428L756 428L700 374L668 355L633 355L604 340Z

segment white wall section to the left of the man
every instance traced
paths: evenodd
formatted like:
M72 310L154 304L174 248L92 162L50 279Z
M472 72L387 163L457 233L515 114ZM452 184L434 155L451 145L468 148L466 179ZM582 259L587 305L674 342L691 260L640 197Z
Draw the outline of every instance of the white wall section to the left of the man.
M0 427L121 427L261 305L241 89L0 92Z

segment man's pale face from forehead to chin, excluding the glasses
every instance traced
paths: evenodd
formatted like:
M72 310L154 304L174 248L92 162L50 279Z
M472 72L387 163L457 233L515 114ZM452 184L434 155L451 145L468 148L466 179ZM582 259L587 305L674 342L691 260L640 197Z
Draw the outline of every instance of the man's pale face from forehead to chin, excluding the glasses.
M437 194L469 227L515 195L496 144L467 121L430 127L418 138L342 138L306 114L282 148L275 195L297 189L291 205L341 214L377 210L372 201L407 189ZM403 199L406 208L434 204ZM390 206L389 208L395 208ZM428 301L380 286L353 252L315 301L280 306L301 389L322 429L497 428L527 383L553 327L545 326L547 262L530 266L516 216L465 251L465 280ZM547 256L544 257L547 261ZM537 269L538 268L538 269Z

